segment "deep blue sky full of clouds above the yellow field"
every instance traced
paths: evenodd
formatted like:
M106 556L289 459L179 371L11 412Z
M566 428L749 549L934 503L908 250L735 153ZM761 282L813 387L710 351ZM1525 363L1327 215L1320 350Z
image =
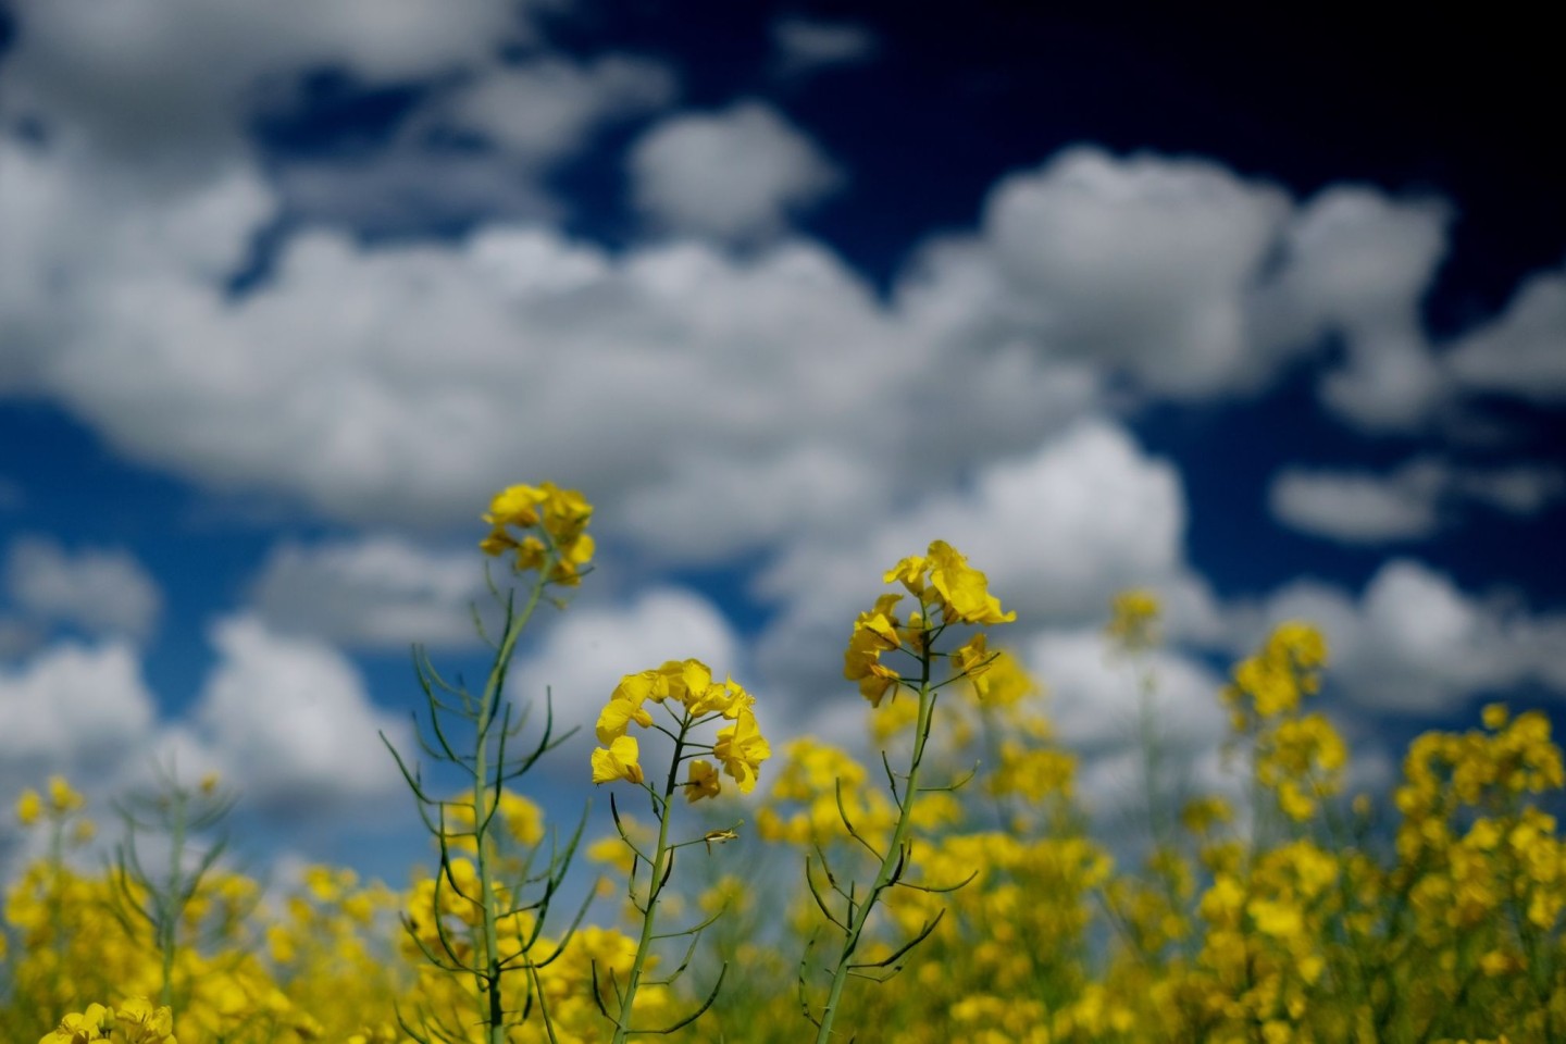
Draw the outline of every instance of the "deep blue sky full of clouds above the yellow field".
M476 515L542 479L600 512L515 679L567 722L702 656L855 728L852 614L935 537L1101 809L1129 585L1203 778L1289 617L1366 786L1557 714L1543 38L915 8L0 3L0 800L174 756L262 864L399 875L374 733L410 643L482 670Z

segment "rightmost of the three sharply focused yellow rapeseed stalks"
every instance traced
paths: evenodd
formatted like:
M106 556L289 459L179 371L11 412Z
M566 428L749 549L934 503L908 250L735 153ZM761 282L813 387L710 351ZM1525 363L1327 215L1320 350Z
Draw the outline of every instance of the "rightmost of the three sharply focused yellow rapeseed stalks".
M966 884L966 881L958 881L955 884L933 886L908 880L908 870L913 862L910 828L919 794L949 790L965 783L927 786L921 781L924 751L935 722L938 692L954 681L968 678L982 698L987 689L983 675L994 659L985 645L987 639L983 632L974 634L966 643L949 653L943 653L936 646L944 632L954 625L1010 623L1016 618L1015 612L1001 612L1001 603L990 593L985 574L971 568L968 559L943 540L933 542L926 556L913 556L900 560L882 581L886 584L900 582L907 593L918 599L919 609L910 614L907 623L904 623L894 614L904 595L882 595L877 598L874 609L860 614L853 625L853 634L844 653L843 673L849 681L858 682L860 695L869 700L874 707L880 707L886 693L896 698L899 690L910 689L919 701L919 711L915 720L908 770L902 773L893 772L891 761L885 753L882 754L882 764L886 769L886 783L891 789L893 801L897 805L897 823L893 828L891 839L883 847L877 847L849 820L847 812L843 809L839 781L838 812L843 819L843 826L879 862L869 887L861 892L852 881L844 886L841 878L827 866L825 853L817 850L816 855L821 859L825 889L835 894L835 898L828 897L816 881L811 859L806 858L805 861L805 881L816 905L825 919L843 934L832 967L832 985L827 988L827 999L819 1014L811 1010L806 995L803 966L800 970L802 1005L805 1016L816 1025L817 1044L825 1044L832 1039L832 1024L838 1016L843 989L849 977L879 980L897 974L902 967L902 958L924 942L941 920L943 914L936 914L932 920L927 920L913 938L888 956L874 961L858 959L857 955L871 914L885 894L897 886L926 892L943 892L955 891ZM902 653L911 657L915 668L910 673L902 673L896 667L883 664L882 657L889 653ZM944 681L935 679L935 664L940 657L946 657L951 667L949 676ZM806 950L806 961L808 956Z

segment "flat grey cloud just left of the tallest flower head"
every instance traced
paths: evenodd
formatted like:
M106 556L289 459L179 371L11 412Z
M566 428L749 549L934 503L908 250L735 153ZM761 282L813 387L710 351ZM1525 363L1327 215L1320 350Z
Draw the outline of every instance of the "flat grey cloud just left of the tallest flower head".
M462 648L479 642L471 606L489 604L473 548L434 553L379 535L272 548L252 593L276 634L335 645Z

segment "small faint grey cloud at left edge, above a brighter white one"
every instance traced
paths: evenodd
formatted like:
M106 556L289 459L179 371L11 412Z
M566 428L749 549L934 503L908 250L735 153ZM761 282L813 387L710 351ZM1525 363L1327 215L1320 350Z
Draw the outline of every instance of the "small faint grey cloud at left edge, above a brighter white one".
M6 592L22 612L96 634L144 640L158 626L163 592L128 551L67 553L47 537L11 543Z

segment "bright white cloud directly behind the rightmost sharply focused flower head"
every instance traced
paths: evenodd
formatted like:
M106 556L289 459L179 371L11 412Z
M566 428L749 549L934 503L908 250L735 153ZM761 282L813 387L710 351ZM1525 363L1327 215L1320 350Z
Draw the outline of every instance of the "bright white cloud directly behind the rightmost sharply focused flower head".
M1174 468L1143 454L1123 429L1084 423L983 468L963 493L930 496L853 537L797 540L758 581L780 614L756 656L800 706L843 692L835 657L855 614L885 590L885 570L936 538L966 554L1018 612L1018 625L991 637L996 645L1026 643L1038 628L1096 626L1126 587L1160 592L1173 635L1211 640L1223 625L1185 568L1184 529Z

